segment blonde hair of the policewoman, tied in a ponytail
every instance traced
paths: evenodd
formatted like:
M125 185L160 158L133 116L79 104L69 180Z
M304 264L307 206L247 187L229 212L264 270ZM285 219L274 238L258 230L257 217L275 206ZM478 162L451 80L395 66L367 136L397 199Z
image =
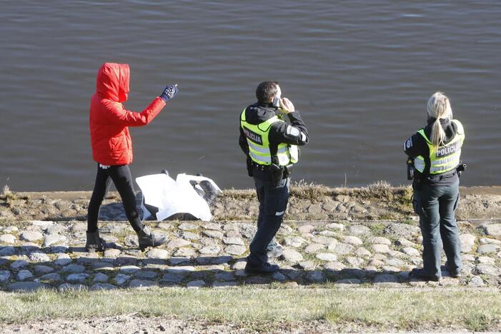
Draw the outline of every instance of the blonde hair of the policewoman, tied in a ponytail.
M449 98L441 91L433 94L428 100L427 105L428 117L435 118L432 125L431 141L435 148L444 143L445 132L440 124L441 118L452 120L452 108L450 107Z

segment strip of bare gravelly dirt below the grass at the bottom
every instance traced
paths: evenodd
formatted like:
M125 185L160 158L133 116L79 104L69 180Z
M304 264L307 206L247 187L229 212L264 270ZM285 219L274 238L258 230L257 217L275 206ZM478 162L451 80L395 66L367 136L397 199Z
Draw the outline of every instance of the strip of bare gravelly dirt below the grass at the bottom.
M498 330L500 330L498 328ZM179 320L176 318L144 318L137 314L106 318L51 319L29 321L2 326L2 333L379 333L377 327L357 323L328 323L324 320L277 323L229 323L203 319ZM387 329L382 333L405 333ZM473 333L465 328L434 325L432 323L412 328L412 333ZM410 333L410 332L407 332Z

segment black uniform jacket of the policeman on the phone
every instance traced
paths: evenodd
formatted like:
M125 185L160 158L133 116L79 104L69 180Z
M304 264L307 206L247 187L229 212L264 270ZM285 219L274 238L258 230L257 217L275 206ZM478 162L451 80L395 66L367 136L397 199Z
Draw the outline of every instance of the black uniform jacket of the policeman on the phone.
M257 125L269 118L272 118L277 114L277 108L274 108L270 104L254 103L245 109L245 119L247 123ZM289 118L289 122L287 119ZM239 119L240 120L240 119ZM308 130L304 121L299 114L299 111L294 111L288 113L284 116L284 121L286 122L275 122L269 129L268 141L269 141L269 151L272 155L277 153L277 147L280 143L287 143L290 145L303 146L308 143ZM242 126L240 128L239 145L242 151L247 156L247 168L249 170L249 176L252 176L252 163L250 163L249 158L249 145L247 144L247 139L245 138Z

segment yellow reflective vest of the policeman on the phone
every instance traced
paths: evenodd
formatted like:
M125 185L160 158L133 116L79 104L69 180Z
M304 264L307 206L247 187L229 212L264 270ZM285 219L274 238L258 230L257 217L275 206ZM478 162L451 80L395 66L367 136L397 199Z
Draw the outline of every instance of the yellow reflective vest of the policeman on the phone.
M257 125L249 124L245 120L245 110L240 117L240 126L244 131L245 138L249 144L249 156L259 165L271 165L272 155L269 152L269 129L275 122L283 122L278 116L273 116ZM277 147L277 158L280 166L287 166L290 163L297 163L299 160L299 150L295 145L279 143Z

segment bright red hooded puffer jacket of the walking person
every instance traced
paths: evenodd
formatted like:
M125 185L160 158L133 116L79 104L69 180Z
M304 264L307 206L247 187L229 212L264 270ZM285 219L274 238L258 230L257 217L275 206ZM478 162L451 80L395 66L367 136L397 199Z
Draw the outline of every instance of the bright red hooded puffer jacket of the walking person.
M96 93L91 98L89 124L92 157L103 165L132 163L132 139L128 126L145 126L165 102L155 98L141 113L128 111L121 102L129 93L129 65L104 63L97 71Z

